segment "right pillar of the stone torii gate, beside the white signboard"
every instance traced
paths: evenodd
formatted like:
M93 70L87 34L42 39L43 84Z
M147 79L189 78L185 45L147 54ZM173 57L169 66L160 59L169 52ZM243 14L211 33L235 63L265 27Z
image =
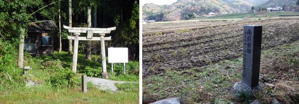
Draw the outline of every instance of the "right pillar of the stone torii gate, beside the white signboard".
M104 42L104 33L100 33L101 38L101 57L102 57L102 78L108 79L110 77L109 73L107 73L106 69L106 52L105 52L105 42Z

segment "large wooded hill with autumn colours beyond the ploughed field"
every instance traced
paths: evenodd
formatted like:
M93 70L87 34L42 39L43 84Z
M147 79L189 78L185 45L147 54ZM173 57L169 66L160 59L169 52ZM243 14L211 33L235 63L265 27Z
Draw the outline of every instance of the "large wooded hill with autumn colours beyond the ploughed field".
M171 5L148 3L142 6L142 18L156 21L184 20L188 14L208 15L210 12L249 12L254 5L267 0L178 0ZM196 17L194 16L194 17Z

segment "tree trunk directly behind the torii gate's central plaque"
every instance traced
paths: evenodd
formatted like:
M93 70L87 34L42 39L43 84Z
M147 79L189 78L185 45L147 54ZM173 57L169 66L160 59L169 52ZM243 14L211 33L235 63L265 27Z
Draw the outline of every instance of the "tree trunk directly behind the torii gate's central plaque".
M91 7L87 7L87 27L91 27ZM87 41L87 53L85 55L86 60L91 60L91 41Z

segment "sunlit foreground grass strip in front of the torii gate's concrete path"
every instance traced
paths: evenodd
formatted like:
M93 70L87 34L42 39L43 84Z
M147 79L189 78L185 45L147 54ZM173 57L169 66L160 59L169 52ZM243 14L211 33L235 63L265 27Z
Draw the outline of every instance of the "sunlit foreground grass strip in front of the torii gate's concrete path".
M120 84L120 92L103 91L88 82L88 92L81 92L80 86L55 88L48 82L48 73L32 69L30 74L41 78L44 83L37 87L26 87L22 81L0 80L0 103L139 103L138 84ZM79 78L79 76L77 76ZM79 81L81 83L81 81ZM123 90L124 89L124 90ZM132 90L128 92L128 90Z

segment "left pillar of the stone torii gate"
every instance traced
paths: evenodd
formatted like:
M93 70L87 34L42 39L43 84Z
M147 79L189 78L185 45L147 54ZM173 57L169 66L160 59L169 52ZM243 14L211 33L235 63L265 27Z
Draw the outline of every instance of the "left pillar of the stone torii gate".
M77 72L77 58L78 58L78 43L79 43L79 35L80 33L74 33L75 40L74 40L74 52L73 52L73 64L72 64L72 71Z

